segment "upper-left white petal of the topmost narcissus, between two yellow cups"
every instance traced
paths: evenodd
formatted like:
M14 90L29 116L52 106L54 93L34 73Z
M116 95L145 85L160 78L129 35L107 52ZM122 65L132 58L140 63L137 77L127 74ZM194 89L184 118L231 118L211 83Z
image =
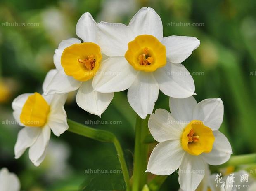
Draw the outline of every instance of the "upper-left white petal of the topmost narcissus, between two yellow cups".
M100 22L98 27L97 42L102 52L107 56L124 56L128 42L135 38L130 28L121 23L106 22Z

